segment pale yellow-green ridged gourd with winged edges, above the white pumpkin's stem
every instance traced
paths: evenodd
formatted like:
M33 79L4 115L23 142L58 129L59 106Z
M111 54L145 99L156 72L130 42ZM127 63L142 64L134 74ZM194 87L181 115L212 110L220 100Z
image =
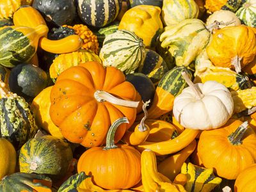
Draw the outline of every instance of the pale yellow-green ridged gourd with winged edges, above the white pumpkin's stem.
M186 19L175 26L165 27L160 41L161 47L168 47L177 66L188 67L205 48L210 38L211 33L202 20Z

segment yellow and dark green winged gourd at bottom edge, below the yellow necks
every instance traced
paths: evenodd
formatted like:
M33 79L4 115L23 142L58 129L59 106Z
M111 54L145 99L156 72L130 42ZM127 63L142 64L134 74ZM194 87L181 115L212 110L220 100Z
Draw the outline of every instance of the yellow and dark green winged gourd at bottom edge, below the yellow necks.
M191 192L212 191L222 181L220 177L214 175L212 168L204 168L192 163L183 163L181 173L187 175L188 181L184 188Z

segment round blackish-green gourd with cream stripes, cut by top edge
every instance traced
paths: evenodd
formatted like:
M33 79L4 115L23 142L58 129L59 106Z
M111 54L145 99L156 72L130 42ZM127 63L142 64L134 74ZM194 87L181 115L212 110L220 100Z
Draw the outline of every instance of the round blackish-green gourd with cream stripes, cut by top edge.
M101 28L116 19L122 0L78 0L79 17L89 26Z

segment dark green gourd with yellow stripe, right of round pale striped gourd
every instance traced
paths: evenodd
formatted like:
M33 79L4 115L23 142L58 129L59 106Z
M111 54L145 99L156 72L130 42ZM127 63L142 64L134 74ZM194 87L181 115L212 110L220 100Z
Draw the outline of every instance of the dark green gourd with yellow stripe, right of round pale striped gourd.
M154 84L168 72L168 67L163 58L157 52L146 49L146 58L138 68L138 72L147 75Z

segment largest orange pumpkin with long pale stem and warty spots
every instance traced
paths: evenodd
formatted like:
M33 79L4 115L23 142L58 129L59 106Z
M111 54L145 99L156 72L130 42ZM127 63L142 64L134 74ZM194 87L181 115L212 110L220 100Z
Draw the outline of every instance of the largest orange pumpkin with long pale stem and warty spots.
M120 125L115 141L124 136L136 118L135 99L134 86L120 70L90 61L58 76L51 90L50 116L67 140L95 147L105 143L109 126L126 116L130 123Z

